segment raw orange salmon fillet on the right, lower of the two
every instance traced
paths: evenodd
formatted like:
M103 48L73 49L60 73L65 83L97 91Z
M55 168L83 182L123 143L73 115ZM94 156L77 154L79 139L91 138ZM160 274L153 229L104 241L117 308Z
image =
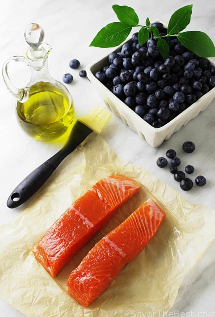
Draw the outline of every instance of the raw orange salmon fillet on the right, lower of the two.
M116 229L102 238L69 276L68 293L88 307L155 235L166 214L148 199Z

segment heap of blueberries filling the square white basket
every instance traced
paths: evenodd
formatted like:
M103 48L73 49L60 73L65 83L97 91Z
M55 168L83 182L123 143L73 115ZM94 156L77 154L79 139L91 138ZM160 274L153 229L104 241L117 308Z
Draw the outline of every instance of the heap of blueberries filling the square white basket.
M167 30L153 23L160 36ZM121 51L108 56L108 65L95 73L112 93L155 128L160 128L215 87L215 67L200 58L176 37L165 37L170 55L164 61L157 40L144 45L138 33Z

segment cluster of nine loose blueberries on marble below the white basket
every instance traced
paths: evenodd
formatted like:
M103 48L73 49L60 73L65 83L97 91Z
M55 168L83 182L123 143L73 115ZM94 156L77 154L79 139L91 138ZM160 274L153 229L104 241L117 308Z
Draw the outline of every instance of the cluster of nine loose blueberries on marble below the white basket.
M192 153L195 150L195 144L190 141L184 142L182 146L184 152L186 153ZM166 156L168 159L171 159L169 172L171 174L174 174L174 179L177 182L180 182L180 187L183 191L190 191L192 189L193 183L190 178L186 178L185 173L183 171L178 171L177 166L181 164L181 161L179 158L176 157L175 150L168 150L166 152ZM157 165L161 168L166 167L168 164L167 159L164 157L160 157L157 159ZM192 165L187 165L185 167L185 172L187 174L192 174L194 172L194 167ZM206 184L206 178L202 175L199 175L195 179L195 183L197 186L204 186Z

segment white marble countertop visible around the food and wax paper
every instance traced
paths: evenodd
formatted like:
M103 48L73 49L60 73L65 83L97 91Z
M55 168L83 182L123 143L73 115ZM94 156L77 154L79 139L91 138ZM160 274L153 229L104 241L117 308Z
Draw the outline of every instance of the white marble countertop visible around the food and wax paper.
M119 0L118 4L131 5L128 0ZM193 0L193 17L190 30L198 29L207 32L215 40L215 5L212 0L203 3ZM24 55L27 44L24 41L25 27L36 22L45 30L45 42L51 44L53 51L49 55L49 70L51 76L61 81L62 75L71 72L74 81L68 89L75 101L77 115L85 113L95 103L105 107L103 100L97 95L93 85L78 76L78 70L71 70L68 63L77 58L81 68L104 55L109 49L89 48L88 45L96 32L105 24L116 21L111 9L113 1L105 0L37 0L35 2L22 0L0 1L0 64L13 55ZM140 20L145 21L162 17L169 19L171 13L179 6L190 4L190 1L132 1ZM81 69L80 68L80 69ZM28 70L20 65L12 73L14 80L20 86L28 81ZM6 200L14 187L36 166L53 155L60 147L56 144L46 144L35 141L25 135L15 121L14 100L6 90L0 77L0 135L1 135L1 224L9 222L20 213L20 209L10 210ZM121 119L113 116L102 136L121 156L133 164L140 165L155 177L177 189L188 201L204 204L214 208L214 178L215 178L215 100L196 119L173 134L162 146L153 149L141 140L136 133L123 124ZM182 143L192 140L196 151L191 155L182 153ZM208 182L205 188L196 186L190 192L183 192L173 176L166 170L156 166L156 159L164 156L168 148L174 148L182 159L181 167L187 164L195 166L196 174L203 174ZM194 179L194 177L192 177ZM172 312L197 316L215 316L215 242L205 252L200 261L186 277L179 290ZM214 312L210 315L210 312ZM211 313L212 314L212 313ZM16 311L6 302L0 300L0 316L20 317L23 314ZM176 315L177 316L177 315ZM42 316L38 316L42 317ZM188 315L187 315L188 317Z

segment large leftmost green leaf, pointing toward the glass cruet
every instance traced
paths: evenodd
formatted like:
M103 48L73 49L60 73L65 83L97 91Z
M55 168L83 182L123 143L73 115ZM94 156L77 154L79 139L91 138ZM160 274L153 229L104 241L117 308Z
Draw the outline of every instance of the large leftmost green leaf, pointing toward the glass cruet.
M120 45L131 32L131 27L122 22L107 24L94 37L90 46L95 47L114 47Z

